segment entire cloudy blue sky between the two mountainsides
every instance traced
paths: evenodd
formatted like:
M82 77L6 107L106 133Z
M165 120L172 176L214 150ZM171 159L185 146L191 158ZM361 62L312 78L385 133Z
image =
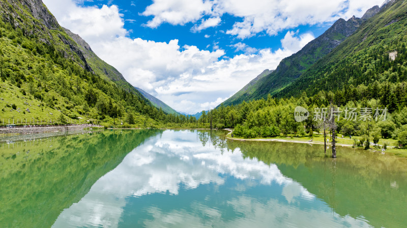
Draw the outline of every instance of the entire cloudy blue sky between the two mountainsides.
M337 19L383 0L43 0L132 85L177 111L213 108Z

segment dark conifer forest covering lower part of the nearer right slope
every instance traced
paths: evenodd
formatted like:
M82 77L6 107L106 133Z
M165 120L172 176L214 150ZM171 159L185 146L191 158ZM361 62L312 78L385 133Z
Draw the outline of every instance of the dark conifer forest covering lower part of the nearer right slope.
M394 60L390 59L389 53L394 54ZM380 91L376 83L407 81L407 49L404 42L377 45L351 57L319 65L316 64L276 96L298 96L299 91L313 95L320 90L337 91L349 86L365 85L368 88L365 94L375 98Z

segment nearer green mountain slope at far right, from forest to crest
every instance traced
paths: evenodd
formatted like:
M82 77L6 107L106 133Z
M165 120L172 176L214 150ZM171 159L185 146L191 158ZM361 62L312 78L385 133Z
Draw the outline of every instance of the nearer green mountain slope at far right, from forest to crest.
M390 1L355 34L277 96L297 95L302 91L313 95L321 90L335 91L362 85L368 86L369 92L377 93L375 88L380 83L406 81L406 30L407 1ZM385 89L390 91L391 88Z

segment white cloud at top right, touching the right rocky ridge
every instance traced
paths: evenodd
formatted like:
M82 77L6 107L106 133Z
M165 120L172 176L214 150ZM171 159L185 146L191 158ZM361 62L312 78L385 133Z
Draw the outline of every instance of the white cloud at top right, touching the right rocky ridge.
M259 32L276 35L277 32L305 24L332 22L340 17L361 17L363 13L382 0L221 0L218 12L228 13L243 20L235 22L227 34L244 39Z

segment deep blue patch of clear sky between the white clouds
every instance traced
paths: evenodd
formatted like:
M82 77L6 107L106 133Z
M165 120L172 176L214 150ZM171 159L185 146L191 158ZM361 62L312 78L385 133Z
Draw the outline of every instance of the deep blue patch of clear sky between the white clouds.
M146 8L153 4L153 1L125 1L125 0L104 0L104 1L89 1L83 2L83 6L99 8L103 5L117 5L119 12L123 14L124 28L129 31L128 37L141 38L143 40L153 40L156 42L169 42L172 39L178 39L179 45L194 45L200 50L214 50L214 46L225 50L224 58L233 57L237 54L245 53L245 50L240 50L234 47L237 43L242 43L242 39L233 35L225 34L225 31L230 29L236 21L242 21L242 17L234 17L230 14L221 16L221 22L216 27L209 27L205 30L194 31L195 22L188 22L184 25L172 25L162 23L157 28L146 26L148 21L154 16L143 16L142 13ZM80 4L79 4L80 5ZM208 19L208 16L203 16L203 19ZM322 22L314 25L299 25L295 30L299 34L311 33L314 37L323 34L331 26L331 22ZM244 44L255 49L278 49L281 48L280 40L285 34L293 29L283 29L275 36L268 36L265 31L259 32L256 36L244 39ZM217 47L215 47L217 48Z

